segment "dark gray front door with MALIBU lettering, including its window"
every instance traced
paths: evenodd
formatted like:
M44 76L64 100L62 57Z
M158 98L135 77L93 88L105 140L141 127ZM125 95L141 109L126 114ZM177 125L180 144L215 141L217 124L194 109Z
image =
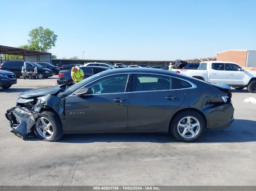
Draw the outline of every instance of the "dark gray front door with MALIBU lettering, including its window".
M128 130L129 74L100 78L85 85L91 94L70 95L65 101L64 131Z

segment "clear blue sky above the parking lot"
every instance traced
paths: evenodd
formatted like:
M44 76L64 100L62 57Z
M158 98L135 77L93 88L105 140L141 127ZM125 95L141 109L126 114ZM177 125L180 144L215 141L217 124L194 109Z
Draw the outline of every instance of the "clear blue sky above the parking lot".
M173 60L256 49L256 1L4 1L0 45L27 44L42 26L58 58Z

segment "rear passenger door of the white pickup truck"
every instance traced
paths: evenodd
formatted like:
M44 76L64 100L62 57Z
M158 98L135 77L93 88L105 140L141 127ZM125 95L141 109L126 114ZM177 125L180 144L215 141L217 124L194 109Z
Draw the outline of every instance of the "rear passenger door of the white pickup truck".
M225 84L227 80L227 71L224 63L211 63L209 69L209 82Z

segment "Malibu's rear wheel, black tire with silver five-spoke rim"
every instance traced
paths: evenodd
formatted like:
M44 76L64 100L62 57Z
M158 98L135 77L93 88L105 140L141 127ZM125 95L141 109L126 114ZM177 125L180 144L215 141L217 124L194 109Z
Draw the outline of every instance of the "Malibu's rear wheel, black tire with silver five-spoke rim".
M190 122L188 122L188 119L190 119ZM195 122L197 122L198 125L193 127L193 124ZM190 128L188 128L188 126ZM203 134L204 129L205 129L205 122L203 117L199 113L191 110L179 113L174 117L174 119L172 119L172 123L170 124L170 130L172 135L178 141L181 141L181 142L196 141ZM185 134L183 134L183 131L186 131ZM192 131L194 132L193 135L192 135Z

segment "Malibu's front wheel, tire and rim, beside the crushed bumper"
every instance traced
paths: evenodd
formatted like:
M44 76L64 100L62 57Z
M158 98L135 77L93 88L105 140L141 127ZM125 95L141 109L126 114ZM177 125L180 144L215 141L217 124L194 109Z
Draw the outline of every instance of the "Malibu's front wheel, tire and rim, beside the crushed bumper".
M59 116L52 111L39 112L33 128L37 137L43 141L57 141L63 135Z

